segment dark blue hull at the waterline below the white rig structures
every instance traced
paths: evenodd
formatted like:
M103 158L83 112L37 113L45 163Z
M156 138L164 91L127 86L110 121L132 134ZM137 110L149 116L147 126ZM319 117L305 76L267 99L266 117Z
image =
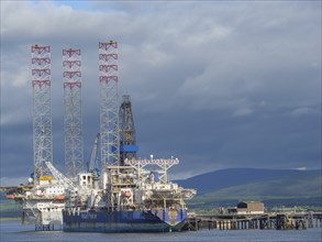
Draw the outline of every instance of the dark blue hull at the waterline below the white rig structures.
M187 211L80 211L63 212L65 232L169 232L180 231Z

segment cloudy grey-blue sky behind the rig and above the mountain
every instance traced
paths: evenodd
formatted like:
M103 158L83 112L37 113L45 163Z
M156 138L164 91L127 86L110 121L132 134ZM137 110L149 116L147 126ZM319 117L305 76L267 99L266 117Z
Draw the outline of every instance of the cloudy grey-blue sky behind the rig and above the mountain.
M64 169L62 50L81 48L85 158L99 132L98 42L119 42L140 156L173 177L321 168L321 1L1 1L1 185L33 170L31 45L52 46Z

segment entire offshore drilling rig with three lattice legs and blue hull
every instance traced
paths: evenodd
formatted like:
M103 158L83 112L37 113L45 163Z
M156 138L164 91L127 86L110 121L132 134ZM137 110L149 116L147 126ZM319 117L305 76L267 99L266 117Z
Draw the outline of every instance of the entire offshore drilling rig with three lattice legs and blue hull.
M22 223L68 232L180 231L185 200L197 191L168 180L178 158L137 160L130 96L121 106L118 100L118 43L99 43L100 132L86 165L81 52L63 50L64 174L53 165L51 47L34 45L31 53L34 170L27 185L7 189L7 198L22 206Z

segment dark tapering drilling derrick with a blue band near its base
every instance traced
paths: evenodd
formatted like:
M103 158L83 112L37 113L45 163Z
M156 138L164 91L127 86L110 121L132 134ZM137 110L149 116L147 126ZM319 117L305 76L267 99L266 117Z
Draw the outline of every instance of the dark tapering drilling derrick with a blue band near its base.
M126 158L136 158L137 151L131 99L124 95L120 107L120 164L124 165Z

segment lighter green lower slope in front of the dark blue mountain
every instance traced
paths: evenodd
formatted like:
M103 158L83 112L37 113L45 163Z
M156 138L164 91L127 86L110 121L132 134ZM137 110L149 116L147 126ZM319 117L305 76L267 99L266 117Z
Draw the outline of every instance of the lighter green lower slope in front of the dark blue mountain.
M260 200L267 205L322 206L321 172L289 174L227 186L196 196L189 204L196 207L230 205L241 200Z

